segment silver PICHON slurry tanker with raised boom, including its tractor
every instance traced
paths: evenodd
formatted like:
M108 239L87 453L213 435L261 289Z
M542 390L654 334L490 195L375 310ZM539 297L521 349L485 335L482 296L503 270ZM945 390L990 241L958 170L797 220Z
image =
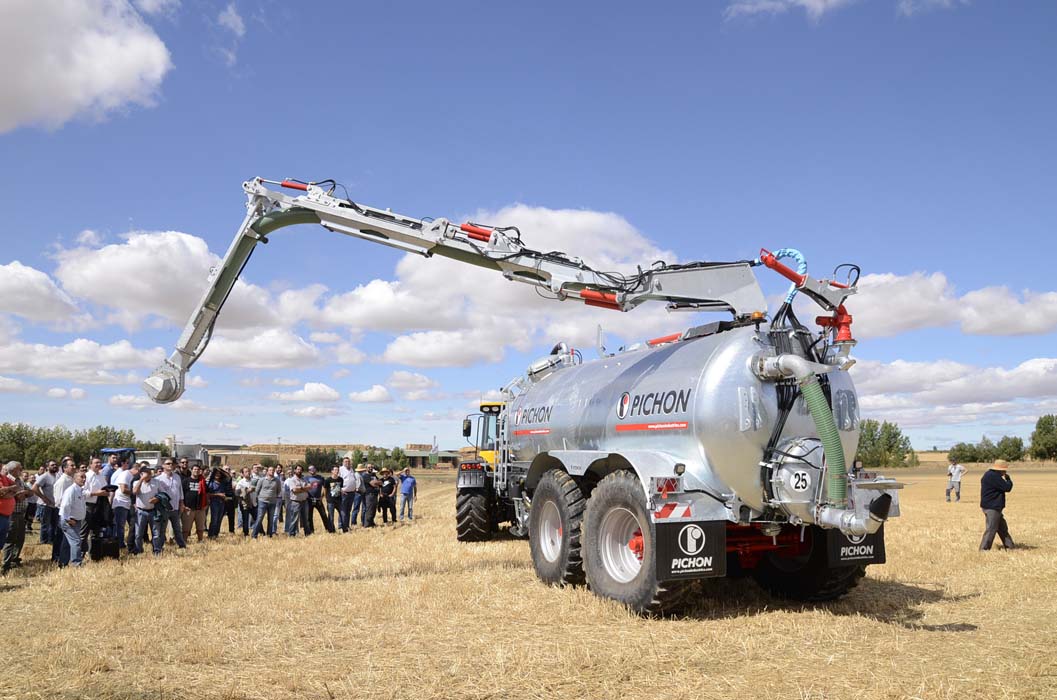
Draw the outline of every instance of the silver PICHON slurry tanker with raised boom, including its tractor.
M334 181L243 184L246 217L175 350L144 382L175 401L258 243L320 224L427 258L494 270L558 300L627 312L648 301L720 320L585 362L563 343L485 402L479 458L460 465L456 534L526 536L539 578L587 584L643 612L685 601L698 579L752 576L771 593L826 601L885 561L902 484L849 468L858 443L852 316L858 268L808 273L793 248L752 260L599 271L528 247L514 226L414 219L338 197ZM292 194L280 191L292 190ZM344 189L344 188L342 188ZM787 260L790 265L782 262ZM774 315L755 269L791 281ZM841 277L842 279L837 279ZM794 313L802 295L822 315ZM474 421L463 432L474 432Z

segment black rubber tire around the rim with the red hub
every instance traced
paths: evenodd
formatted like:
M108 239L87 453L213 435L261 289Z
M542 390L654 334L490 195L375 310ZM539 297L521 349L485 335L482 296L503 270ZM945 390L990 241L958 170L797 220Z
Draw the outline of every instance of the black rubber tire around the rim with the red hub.
M615 578L602 559L601 526L607 513L630 511L639 528L650 529L650 514L642 483L631 472L613 472L591 492L583 516L583 570L591 591L601 597L623 603L645 614L667 614L679 610L693 589L694 582L657 581L656 548L653 537L644 538L642 568L628 582Z

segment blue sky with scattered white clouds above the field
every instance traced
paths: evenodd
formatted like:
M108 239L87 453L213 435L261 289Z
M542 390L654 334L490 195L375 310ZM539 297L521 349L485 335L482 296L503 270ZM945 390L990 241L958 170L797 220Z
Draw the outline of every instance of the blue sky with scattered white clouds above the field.
M696 320L292 228L187 401L144 405L262 176L617 265L857 262L864 415L919 447L1026 437L1057 411L1055 29L985 0L4 3L0 420L455 446L555 340Z

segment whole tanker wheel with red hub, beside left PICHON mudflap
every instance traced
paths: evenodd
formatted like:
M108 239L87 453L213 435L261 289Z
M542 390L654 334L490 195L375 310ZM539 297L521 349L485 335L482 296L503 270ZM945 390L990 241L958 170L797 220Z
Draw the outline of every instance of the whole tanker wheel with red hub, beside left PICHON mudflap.
M595 594L636 612L672 612L692 586L657 581L646 495L631 472L614 472L591 492L583 516L583 569Z

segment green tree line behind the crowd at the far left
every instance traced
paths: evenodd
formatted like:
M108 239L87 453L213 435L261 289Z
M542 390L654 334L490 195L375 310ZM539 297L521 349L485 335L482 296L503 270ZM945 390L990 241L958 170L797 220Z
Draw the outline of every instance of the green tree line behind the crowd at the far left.
M156 449L168 456L168 447L156 442L137 440L132 430L109 425L71 430L56 425L37 427L25 423L0 423L0 460L21 462L26 468L36 469L50 459L73 457L79 464L99 455L104 447L135 447Z

